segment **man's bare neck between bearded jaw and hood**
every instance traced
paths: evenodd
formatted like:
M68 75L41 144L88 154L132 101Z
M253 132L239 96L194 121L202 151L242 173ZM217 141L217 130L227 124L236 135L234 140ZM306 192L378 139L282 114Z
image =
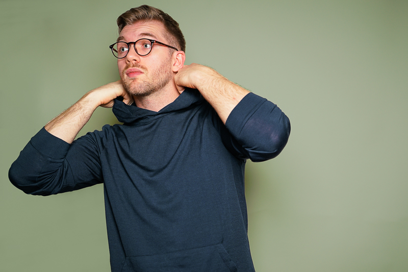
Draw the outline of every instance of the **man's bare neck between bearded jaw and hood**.
M136 106L146 110L156 112L160 111L161 109L172 103L180 95L180 92L177 91L177 88L175 87L175 85L173 85L174 84L168 84L165 88L149 95L133 95Z

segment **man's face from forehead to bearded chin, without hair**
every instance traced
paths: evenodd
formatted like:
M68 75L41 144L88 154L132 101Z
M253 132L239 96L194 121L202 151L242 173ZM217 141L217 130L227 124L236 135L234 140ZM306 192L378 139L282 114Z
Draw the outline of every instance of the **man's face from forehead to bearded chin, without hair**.
M141 21L125 26L118 41L134 42L147 38L168 44L163 33L165 29L161 22ZM147 96L165 88L173 79L171 51L154 43L147 56L139 56L131 44L126 57L118 59L119 75L126 91L135 96Z

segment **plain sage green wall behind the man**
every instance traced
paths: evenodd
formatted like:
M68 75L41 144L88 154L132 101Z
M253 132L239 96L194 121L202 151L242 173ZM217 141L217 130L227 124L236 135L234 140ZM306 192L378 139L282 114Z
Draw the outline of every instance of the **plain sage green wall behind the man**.
M408 270L408 2L0 1L0 271L109 271L103 186L25 195L19 151L85 92L118 80L116 18L177 20L187 60L277 104L292 133L247 163L257 271ZM81 134L114 123L97 109Z

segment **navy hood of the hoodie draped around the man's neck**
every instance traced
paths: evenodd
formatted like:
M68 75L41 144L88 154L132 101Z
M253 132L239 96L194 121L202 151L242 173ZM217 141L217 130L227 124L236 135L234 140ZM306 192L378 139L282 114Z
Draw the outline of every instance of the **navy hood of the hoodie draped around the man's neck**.
M204 98L198 90L186 88L172 103L170 103L160 111L155 112L139 108L135 104L126 105L121 101L121 98L122 97L118 97L115 99L115 104L112 107L112 111L118 121L123 123L132 123L148 119L150 117L188 109L191 106L200 104L204 101Z

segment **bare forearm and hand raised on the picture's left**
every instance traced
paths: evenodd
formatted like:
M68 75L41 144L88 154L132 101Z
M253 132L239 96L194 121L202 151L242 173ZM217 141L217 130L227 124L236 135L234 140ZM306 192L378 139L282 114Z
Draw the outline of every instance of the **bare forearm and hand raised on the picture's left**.
M82 98L45 125L54 136L71 143L99 106L111 108L114 99L123 96L123 102L132 104L132 96L125 91L121 81L109 83L87 92Z

